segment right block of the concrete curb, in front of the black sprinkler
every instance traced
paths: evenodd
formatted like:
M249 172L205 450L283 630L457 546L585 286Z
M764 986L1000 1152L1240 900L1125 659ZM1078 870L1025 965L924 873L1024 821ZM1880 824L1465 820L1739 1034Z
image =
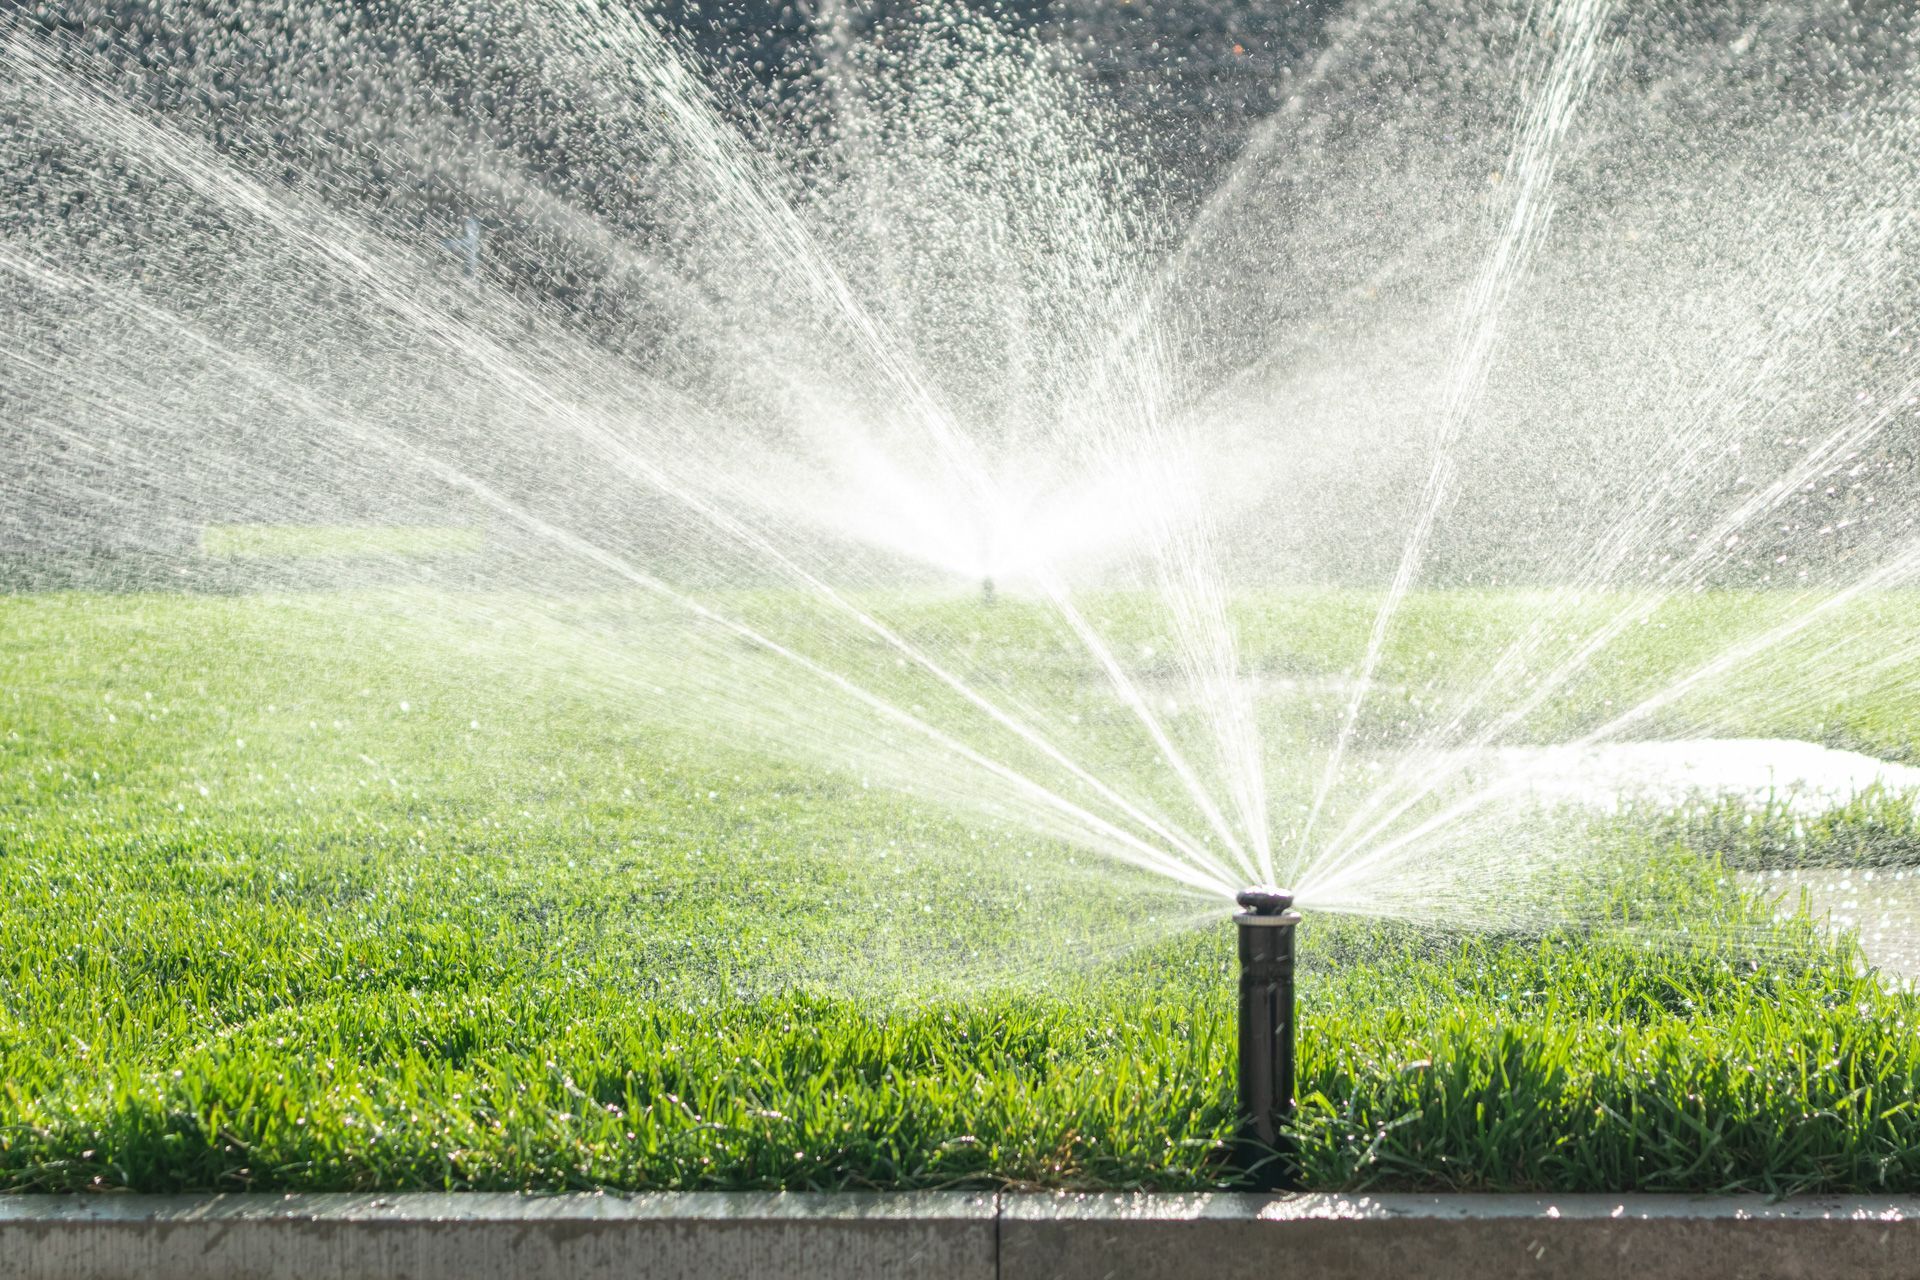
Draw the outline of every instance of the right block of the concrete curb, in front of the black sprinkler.
M1077 1196L1002 1201L1000 1276L1916 1280L1920 1197Z

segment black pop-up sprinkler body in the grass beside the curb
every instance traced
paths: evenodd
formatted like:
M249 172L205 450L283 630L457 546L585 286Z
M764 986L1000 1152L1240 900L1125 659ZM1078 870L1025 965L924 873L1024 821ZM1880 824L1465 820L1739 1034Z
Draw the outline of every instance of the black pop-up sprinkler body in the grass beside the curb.
M1238 894L1240 933L1240 1142L1238 1161L1261 1192L1298 1184L1298 1151L1284 1132L1294 1115L1294 927L1284 889Z

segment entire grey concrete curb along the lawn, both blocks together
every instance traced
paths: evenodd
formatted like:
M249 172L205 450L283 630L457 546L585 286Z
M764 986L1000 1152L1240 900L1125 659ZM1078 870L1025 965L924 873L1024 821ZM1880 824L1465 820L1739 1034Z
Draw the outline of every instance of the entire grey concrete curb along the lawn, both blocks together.
M1914 1280L1920 1197L0 1196L0 1280Z

